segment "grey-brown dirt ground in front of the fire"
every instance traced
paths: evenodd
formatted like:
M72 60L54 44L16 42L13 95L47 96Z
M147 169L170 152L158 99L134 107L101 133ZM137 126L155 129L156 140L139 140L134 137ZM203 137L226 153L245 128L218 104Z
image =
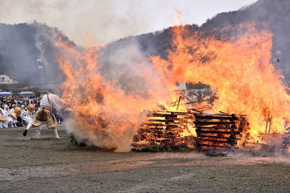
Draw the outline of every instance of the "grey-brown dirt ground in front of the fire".
M72 146L66 126L0 128L0 192L290 192L289 155L115 153Z

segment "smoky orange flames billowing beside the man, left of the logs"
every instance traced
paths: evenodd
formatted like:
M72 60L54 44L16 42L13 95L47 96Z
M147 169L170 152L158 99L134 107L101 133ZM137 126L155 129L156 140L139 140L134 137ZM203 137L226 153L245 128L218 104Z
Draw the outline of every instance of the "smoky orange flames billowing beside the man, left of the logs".
M127 152L140 112L157 108L157 99L166 98L168 89L160 87L161 77L137 39L121 49L103 50L73 48L56 37L56 60L66 76L63 99L73 104L77 121L70 127L77 141Z

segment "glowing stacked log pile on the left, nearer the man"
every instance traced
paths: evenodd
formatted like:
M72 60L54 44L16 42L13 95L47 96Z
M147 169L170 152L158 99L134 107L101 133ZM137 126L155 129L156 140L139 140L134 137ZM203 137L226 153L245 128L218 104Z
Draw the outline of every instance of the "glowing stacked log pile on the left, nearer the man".
M188 124L193 122L191 112L148 111L144 110L140 117L146 117L134 138L137 146L152 143L169 147L183 142L182 133L190 132Z

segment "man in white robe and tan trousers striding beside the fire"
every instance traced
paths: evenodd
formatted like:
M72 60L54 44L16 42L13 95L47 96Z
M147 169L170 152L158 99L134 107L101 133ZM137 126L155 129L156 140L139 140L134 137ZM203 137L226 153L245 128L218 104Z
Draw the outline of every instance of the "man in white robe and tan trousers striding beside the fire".
M27 128L23 132L23 135L26 136L28 130L31 127L39 127L45 122L48 129L52 129L56 139L60 139L57 134L57 120L53 113L51 113L52 107L57 111L60 111L62 108L62 103L67 104L65 101L61 100L58 96L54 94L53 90L49 90L46 95L40 100L40 106L34 116L34 118L29 122Z

